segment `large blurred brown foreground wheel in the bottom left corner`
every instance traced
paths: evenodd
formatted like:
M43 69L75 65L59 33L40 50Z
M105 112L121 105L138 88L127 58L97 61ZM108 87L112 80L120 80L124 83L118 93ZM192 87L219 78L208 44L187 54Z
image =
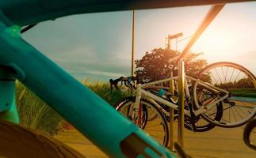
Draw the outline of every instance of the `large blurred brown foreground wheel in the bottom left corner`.
M11 122L0 122L0 157L85 157L62 142Z

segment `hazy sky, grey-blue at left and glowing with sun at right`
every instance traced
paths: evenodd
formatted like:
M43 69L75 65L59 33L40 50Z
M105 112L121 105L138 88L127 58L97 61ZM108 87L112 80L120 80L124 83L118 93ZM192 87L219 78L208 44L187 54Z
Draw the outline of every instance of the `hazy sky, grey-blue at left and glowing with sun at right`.
M211 6L136 10L135 56L165 47L182 51ZM44 21L23 38L79 81L109 81L131 74L132 11L86 13ZM182 40L185 39L186 40ZM212 62L235 62L256 75L256 2L227 4L191 51Z

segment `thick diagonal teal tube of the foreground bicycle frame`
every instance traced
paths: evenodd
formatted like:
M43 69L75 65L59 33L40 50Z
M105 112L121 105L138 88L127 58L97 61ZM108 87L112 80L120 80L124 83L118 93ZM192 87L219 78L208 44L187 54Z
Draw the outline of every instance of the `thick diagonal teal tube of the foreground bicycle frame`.
M134 150L143 146L144 154L154 152L159 157L173 157L166 148L144 134L143 130L125 119L89 88L22 40L17 27L6 28L2 23L0 64L9 66L14 77L51 105L108 156L125 157L124 153L128 153L126 149L136 152ZM129 140L132 139L139 142L135 149L131 149Z

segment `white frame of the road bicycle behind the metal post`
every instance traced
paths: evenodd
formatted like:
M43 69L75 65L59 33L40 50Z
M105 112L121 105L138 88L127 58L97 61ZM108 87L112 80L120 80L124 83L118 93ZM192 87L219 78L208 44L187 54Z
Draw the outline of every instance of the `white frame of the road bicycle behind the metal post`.
M201 113L203 113L205 111L208 111L208 109L211 109L212 107L216 106L216 103L219 103L220 101L223 101L224 99L226 99L228 97L229 92L227 92L224 89L218 88L218 87L216 87L214 85L211 85L207 82L197 80L193 77L185 76L185 89L184 90L185 90L185 97L186 98L190 98L189 86L187 84L186 78L188 78L192 81L197 81L197 84L203 85L204 87L206 87L208 89L211 89L213 92L224 92L225 93L225 95L222 96L220 99L214 100L214 101L212 101L212 103L209 103L206 106L205 105L201 106L196 111L193 111L195 115L200 115ZM154 103L155 106L158 107L159 110L162 111L167 116L169 116L170 113L168 111L166 111L165 109L163 109L161 107L161 105L159 105L159 103L163 103L163 104L165 104L166 106L168 106L170 108L174 108L175 110L178 110L178 105L177 104L171 103L170 101L167 101L167 100L164 100L160 96L156 96L156 95L152 94L151 92L147 92L146 90L143 89L143 88L150 87L151 85L158 85L158 84L164 83L166 81L177 80L177 79L178 79L178 76L177 77L170 77L170 78L159 80L159 81L153 81L151 83L147 83L147 84L143 84L143 85L138 84L136 86L135 108L139 108L139 103L138 102L139 102L140 98L143 96L143 98L145 98L146 100L149 100L151 103ZM193 98L194 100L197 99L196 96L193 96L193 97L194 97ZM158 101L159 103L157 103L156 101ZM190 116L190 112L188 110L184 109L184 113L185 113L185 115Z

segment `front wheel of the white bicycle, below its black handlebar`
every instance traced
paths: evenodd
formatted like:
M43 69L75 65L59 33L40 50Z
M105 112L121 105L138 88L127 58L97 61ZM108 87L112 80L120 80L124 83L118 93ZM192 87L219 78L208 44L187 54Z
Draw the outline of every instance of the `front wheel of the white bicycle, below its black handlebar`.
M128 97L124 100L121 100L115 106L117 111L122 115L127 117L132 121L132 106L135 101L135 97ZM160 144L167 146L169 141L169 131L166 123L166 118L162 115L162 112L159 111L154 104L148 102L147 100L140 100L140 105L142 106L142 121L141 126L147 134L159 141ZM152 116L157 115L155 119L148 120Z

